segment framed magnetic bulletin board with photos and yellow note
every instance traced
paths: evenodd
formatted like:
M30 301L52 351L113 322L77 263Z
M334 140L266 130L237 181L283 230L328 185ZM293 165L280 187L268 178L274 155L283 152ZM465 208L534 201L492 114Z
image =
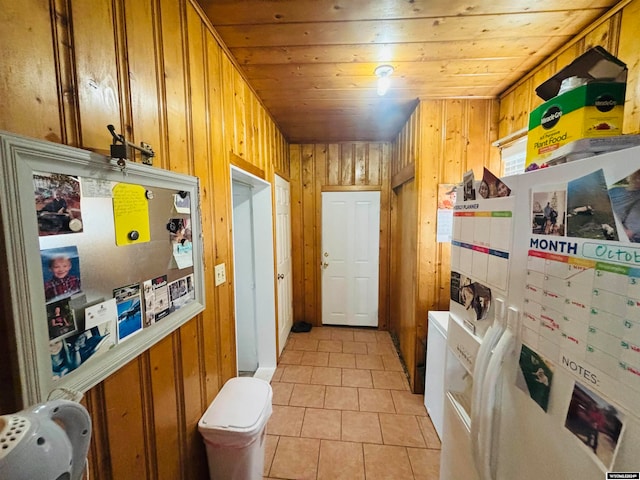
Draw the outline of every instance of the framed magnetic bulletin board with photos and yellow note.
M0 132L0 212L25 405L204 310L196 177Z

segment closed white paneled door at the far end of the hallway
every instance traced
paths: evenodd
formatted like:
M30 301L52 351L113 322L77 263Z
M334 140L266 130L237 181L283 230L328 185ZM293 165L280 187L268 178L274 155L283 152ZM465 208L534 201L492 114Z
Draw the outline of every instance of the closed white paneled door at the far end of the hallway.
M322 323L378 326L380 192L322 193Z

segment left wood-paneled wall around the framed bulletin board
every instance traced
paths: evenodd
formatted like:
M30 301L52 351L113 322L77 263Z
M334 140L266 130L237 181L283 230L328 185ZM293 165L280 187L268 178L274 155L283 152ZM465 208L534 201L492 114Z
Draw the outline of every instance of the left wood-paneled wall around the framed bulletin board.
M92 479L207 478L197 422L236 375L230 159L288 177L287 142L190 0L2 0L0 40L0 129L108 153L113 124L153 147L156 168L200 178L206 310L84 402ZM0 413L23 407L7 364Z

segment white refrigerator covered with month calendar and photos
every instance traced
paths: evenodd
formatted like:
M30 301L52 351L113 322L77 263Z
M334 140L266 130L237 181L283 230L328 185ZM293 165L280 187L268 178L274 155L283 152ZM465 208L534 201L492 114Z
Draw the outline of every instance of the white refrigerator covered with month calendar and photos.
M454 210L440 479L638 478L640 147L503 181Z

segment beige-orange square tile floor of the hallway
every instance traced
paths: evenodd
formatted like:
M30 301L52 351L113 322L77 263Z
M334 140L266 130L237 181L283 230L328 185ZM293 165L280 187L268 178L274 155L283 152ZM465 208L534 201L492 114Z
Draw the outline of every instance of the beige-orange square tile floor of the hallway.
M388 332L291 333L271 386L265 479L438 479L440 440Z

